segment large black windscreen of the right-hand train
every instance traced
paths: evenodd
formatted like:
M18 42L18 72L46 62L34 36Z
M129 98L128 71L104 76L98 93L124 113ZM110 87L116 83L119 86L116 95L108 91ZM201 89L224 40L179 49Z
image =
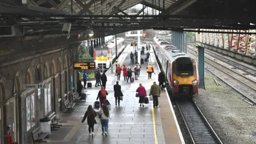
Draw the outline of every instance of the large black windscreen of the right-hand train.
M175 60L175 68L178 76L193 76L194 75L194 65L190 58L178 58Z

